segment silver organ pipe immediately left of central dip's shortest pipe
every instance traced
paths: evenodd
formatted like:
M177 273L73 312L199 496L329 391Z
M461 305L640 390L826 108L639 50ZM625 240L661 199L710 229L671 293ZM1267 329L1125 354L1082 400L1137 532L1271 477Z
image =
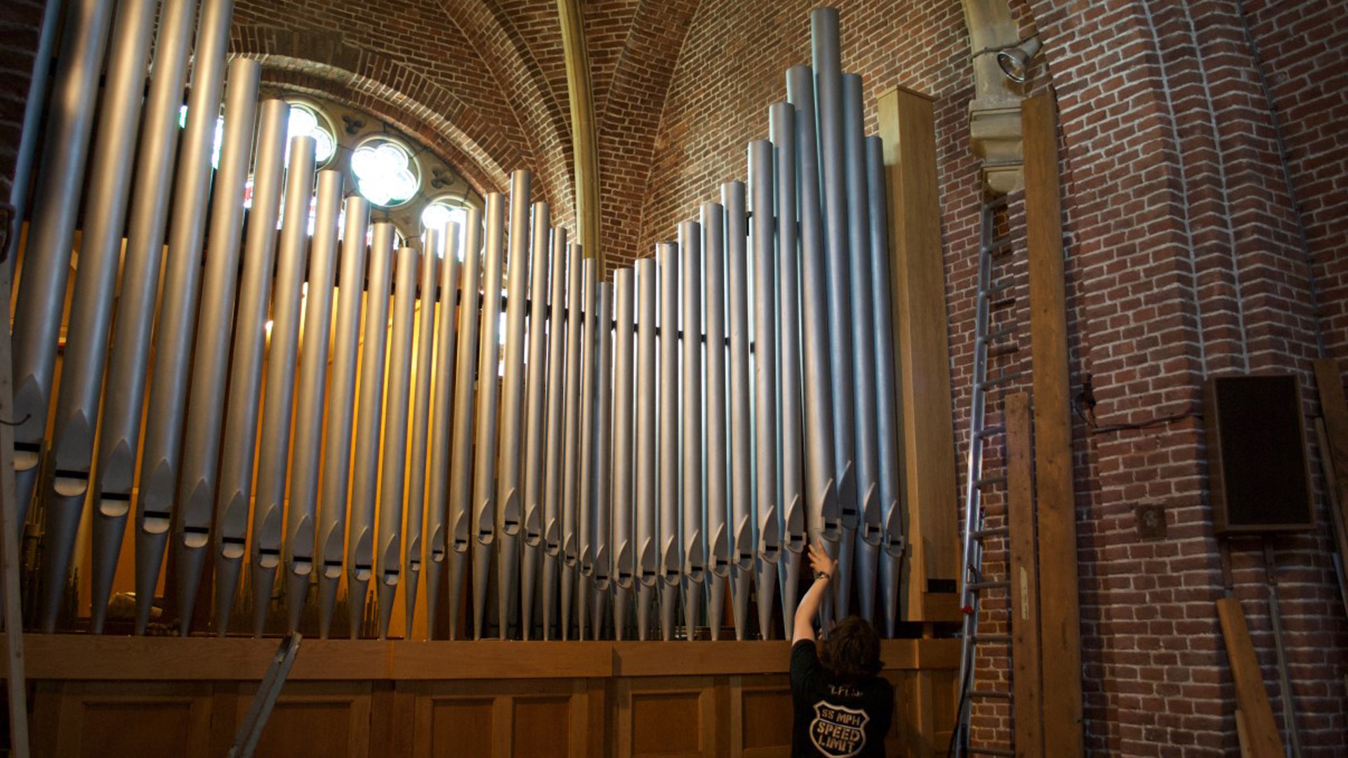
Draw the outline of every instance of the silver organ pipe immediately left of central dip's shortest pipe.
M576 499L576 630L577 638L585 639L585 622L589 615L589 577L594 575L594 442L596 442L596 363L599 352L599 278L594 274L594 259L581 262L584 294L581 297L581 414L580 414L580 464ZM563 597L565 606L565 597ZM563 607L563 615L566 614Z

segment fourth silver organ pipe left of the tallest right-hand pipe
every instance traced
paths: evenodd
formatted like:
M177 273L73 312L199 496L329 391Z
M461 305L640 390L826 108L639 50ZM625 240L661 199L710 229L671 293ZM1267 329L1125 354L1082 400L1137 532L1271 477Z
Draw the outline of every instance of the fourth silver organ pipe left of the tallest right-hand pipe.
M731 606L735 639L748 629L754 577L754 428L749 380L748 210L744 182L721 185L725 206L727 303L731 364Z

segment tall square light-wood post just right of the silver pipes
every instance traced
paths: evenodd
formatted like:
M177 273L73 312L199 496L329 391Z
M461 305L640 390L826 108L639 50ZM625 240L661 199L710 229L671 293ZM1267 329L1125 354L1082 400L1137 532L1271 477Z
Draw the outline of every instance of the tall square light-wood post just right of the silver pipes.
M903 620L960 620L954 597L960 538L950 402L950 347L941 251L931 98L895 88L878 101L890 193L891 290L903 430L907 571L899 584Z

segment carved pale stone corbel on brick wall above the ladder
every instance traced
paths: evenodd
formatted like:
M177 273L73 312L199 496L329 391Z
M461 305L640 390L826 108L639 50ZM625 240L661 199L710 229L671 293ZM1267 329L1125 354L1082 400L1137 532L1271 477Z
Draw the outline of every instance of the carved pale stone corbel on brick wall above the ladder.
M998 51L1020 42L1007 0L961 0L973 57L969 143L983 159L983 178L993 194L1023 186L1020 177L1020 101L1024 86L1002 73Z

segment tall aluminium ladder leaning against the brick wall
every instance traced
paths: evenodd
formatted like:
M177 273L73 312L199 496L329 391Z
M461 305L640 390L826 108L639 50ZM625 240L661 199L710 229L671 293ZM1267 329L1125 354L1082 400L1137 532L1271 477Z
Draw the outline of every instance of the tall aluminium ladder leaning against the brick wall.
M1019 352L1016 345L1016 324L1014 309L1016 298L1010 294L1012 287L1011 260L1012 235L1008 229L1002 229L999 235L999 218L1004 217L1007 197L989 197L984 194L980 209L980 244L979 244L979 299L975 314L975 345L973 345L973 391L969 410L969 457L964 494L964 550L961 565L964 571L960 576L960 607L964 612L962 643L960 649L960 678L957 680L960 700L957 722L950 735L950 755L964 758L967 755L1007 755L1014 757L1014 750L1000 747L979 747L969 745L969 719L973 712L975 700L1004 700L1011 703L1011 692L1006 691L979 691L973 688L975 660L980 645L1007 646L1010 658L1011 635L979 635L979 600L985 589L1006 589L1010 592L1010 581L1006 577L989 579L983 575L983 548L987 538L1006 538L1008 526L1003 519L1000 526L985 527L983 507L983 492L993 487L1006 486L1006 472L984 471L984 450L991 437L1003 434L1004 426L985 425L988 394L999 386L1016 380L1020 371L1007 371L988 376L989 361ZM998 329L992 329L993 317L1000 312L1007 313L998 321ZM1004 502L1004 500L1003 500ZM1010 615L1008 620L1010 623ZM1012 708L1012 719L1015 712ZM1014 746L1012 746L1014 747Z

